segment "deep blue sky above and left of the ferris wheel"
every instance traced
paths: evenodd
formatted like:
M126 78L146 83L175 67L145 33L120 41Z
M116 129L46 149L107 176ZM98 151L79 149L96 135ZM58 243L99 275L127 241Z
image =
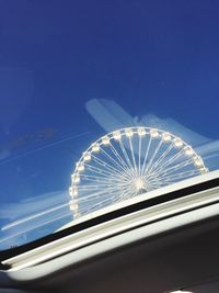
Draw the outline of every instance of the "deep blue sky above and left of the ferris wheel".
M93 98L217 139L218 10L217 0L1 0L1 202L68 187L103 133L84 106Z

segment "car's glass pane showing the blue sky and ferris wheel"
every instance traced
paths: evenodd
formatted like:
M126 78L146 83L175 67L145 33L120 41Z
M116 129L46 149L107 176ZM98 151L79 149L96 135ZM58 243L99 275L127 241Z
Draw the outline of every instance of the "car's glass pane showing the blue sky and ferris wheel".
M218 9L0 2L0 249L218 169Z

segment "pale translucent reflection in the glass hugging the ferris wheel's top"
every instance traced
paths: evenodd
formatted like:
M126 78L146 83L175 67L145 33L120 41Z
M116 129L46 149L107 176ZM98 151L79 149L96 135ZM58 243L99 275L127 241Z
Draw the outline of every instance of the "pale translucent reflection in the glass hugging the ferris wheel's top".
M219 168L219 140L205 137L171 117L161 119L154 114L145 114L142 117L131 116L115 101L106 99L90 100L85 108L106 132L128 126L147 126L168 131L192 145L209 169Z

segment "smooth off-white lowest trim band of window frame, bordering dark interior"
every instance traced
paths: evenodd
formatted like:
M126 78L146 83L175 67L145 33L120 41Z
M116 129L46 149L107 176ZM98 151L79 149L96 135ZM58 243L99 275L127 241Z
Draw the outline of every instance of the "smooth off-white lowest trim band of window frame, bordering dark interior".
M152 223L150 225L141 226L136 229L115 235L114 237L103 239L102 241L93 243L78 250L70 251L67 255L48 260L42 264L37 264L34 267L14 267L9 270L7 274L10 277L10 279L15 281L30 281L44 278L45 275L65 269L68 266L77 264L81 261L84 261L85 259L96 257L101 253L114 250L127 244L131 244L143 238L159 235L163 232L169 232L171 229L182 227L184 225L198 222L200 219L209 218L214 215L218 215L218 211L219 203L212 206L205 206L197 210L195 213L187 212L184 214L180 214L173 217L165 218L163 221Z

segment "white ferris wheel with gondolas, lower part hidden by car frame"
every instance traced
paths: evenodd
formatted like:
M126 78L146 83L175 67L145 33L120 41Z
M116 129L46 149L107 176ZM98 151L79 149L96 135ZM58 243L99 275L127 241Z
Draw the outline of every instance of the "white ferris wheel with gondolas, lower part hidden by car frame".
M180 137L150 127L122 128L82 154L71 174L70 209L76 218L207 171Z

